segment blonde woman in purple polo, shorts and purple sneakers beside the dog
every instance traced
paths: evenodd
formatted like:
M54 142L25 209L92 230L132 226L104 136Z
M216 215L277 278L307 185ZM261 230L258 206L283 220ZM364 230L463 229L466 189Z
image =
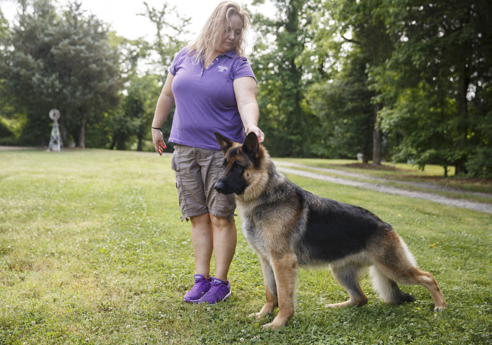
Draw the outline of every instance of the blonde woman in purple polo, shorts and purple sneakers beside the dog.
M227 272L236 249L236 205L232 195L214 189L223 160L214 131L243 142L246 129L264 141L257 126L256 79L243 57L249 22L236 2L219 3L196 41L174 58L155 109L152 138L162 155L166 145L160 127L176 103L169 137L176 143L171 165L182 221L191 221L196 268L195 284L184 295L185 302L217 303L231 294Z

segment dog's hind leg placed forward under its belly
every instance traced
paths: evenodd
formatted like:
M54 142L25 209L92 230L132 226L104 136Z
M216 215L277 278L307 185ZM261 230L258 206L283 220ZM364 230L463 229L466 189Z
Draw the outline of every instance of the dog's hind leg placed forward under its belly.
M335 279L347 290L350 299L341 303L327 304L325 307L339 308L346 306L361 307L368 302L366 294L359 285L359 272L362 267L351 264L331 265Z

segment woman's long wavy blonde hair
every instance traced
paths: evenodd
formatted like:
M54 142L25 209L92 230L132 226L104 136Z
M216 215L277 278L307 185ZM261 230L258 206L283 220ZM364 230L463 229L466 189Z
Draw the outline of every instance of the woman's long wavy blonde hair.
M222 1L215 7L196 40L188 47L188 54L192 55L193 63L198 63L199 59L206 60L214 55L223 39L224 22L230 23L230 18L233 15L238 15L243 20L243 31L235 51L239 56L245 55L245 33L251 20L237 2Z

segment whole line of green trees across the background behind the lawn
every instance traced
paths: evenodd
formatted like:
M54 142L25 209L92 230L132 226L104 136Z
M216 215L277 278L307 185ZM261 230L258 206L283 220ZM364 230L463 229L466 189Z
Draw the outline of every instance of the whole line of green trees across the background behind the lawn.
M0 15L0 144L46 143L58 107L65 144L153 149L155 102L189 20L146 6L154 41L128 40L77 2L19 2L18 21ZM273 0L271 18L261 2L250 60L272 155L361 153L492 177L488 1Z

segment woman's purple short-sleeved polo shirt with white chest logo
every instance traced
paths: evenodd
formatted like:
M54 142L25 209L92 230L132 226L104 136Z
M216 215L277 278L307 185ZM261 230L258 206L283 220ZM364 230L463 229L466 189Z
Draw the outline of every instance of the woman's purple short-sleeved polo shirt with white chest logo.
M193 64L185 47L169 67L176 102L169 142L220 150L215 131L243 143L243 122L233 82L246 76L255 78L251 66L235 51L219 55L205 70L203 63L199 60Z

